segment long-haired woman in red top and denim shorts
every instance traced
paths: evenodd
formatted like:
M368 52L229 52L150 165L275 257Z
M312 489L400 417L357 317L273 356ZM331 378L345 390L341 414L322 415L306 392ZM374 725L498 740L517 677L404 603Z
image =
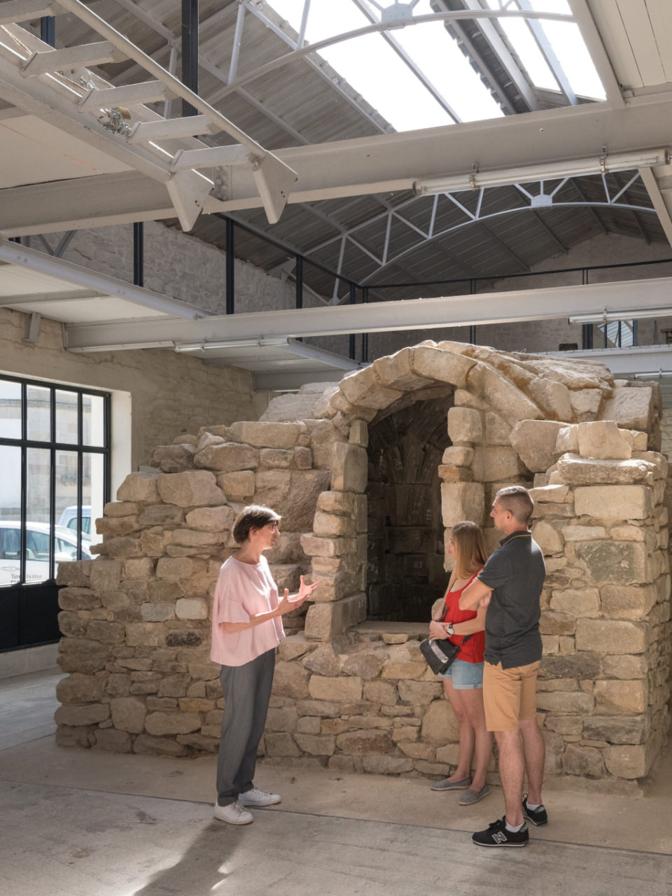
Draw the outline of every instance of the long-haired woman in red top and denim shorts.
M462 591L473 582L487 560L483 532L475 522L455 523L448 542L448 553L454 557L445 604L441 615L429 624L432 638L448 637L461 644L470 634L452 665L444 672L444 688L452 711L460 726L460 754L457 768L450 778L435 781L433 790L465 790L460 806L471 806L490 792L486 783L487 767L492 754L493 736L486 728L483 711L483 651L486 646L486 607L461 610L458 601ZM476 770L471 777L471 761L476 752Z

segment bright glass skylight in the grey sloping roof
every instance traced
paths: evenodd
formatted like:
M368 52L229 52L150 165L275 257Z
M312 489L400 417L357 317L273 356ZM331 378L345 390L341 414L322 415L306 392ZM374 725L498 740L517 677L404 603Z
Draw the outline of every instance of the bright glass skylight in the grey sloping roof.
M484 7L520 10L518 0L481 0ZM296 31L300 28L304 0L268 0L277 13ZM360 0L381 21L380 7L390 9L392 0ZM566 0L529 0L540 13L571 14ZM403 4L401 4L403 5ZM414 16L432 13L429 0L416 0ZM494 20L493 20L494 21ZM604 99L605 92L590 60L581 33L573 22L538 20L572 90L583 97ZM371 21L355 0L312 0L306 25L309 43L366 28ZM518 56L533 86L560 90L556 77L538 45L538 39L524 19L500 19L513 52ZM473 70L460 47L450 37L444 22L427 22L395 28L388 34L409 56L434 89L461 121L478 121L503 116L486 85ZM452 117L432 96L418 77L380 33L368 34L319 50L332 65L397 131L452 124Z

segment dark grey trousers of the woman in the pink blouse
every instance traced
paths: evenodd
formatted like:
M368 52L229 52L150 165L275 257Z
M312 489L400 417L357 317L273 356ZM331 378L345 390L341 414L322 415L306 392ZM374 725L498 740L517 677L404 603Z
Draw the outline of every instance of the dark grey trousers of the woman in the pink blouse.
M253 786L256 751L262 739L275 671L275 648L243 666L222 666L226 700L217 758L217 802L235 803Z

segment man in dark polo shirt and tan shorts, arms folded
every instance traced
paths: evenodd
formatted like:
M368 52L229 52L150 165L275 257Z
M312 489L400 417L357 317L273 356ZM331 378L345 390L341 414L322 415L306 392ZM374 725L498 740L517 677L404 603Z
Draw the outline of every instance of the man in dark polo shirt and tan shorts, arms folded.
M546 566L528 522L534 508L522 486L501 488L490 516L504 538L466 588L460 608L487 607L483 702L488 731L499 747L499 774L504 788L504 818L477 831L478 846L525 846L525 820L545 824L541 802L544 738L537 725L537 670L541 659L539 615ZM529 794L523 796L527 771Z

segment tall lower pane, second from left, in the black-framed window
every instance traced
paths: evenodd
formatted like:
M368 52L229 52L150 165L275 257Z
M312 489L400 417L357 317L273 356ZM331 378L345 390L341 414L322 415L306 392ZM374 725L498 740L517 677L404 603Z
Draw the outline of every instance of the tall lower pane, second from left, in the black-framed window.
M49 578L50 456L47 448L27 451L26 582Z

